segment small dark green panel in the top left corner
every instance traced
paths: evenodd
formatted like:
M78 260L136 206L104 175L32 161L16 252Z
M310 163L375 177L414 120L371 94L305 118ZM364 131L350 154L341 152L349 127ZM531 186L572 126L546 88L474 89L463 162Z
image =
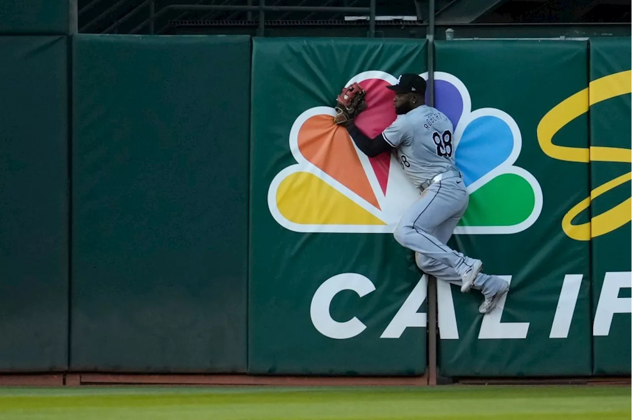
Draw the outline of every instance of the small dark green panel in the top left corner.
M73 2L76 0L2 0L0 33L66 34Z

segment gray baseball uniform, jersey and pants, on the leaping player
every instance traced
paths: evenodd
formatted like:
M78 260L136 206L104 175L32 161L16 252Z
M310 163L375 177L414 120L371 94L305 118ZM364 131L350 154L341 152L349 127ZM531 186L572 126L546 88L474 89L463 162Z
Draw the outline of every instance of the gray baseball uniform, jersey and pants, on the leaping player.
M420 199L401 218L395 239L415 251L423 272L458 282L474 260L446 245L469 202L454 162L453 133L453 124L445 114L422 105L398 115L382 137L396 148L404 172L422 190ZM473 287L490 297L502 282L500 277L480 273Z

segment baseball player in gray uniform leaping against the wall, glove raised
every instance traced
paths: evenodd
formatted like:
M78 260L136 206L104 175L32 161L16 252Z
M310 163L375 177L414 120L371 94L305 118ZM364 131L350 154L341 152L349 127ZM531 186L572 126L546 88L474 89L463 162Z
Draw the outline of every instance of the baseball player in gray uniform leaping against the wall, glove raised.
M348 129L365 155L395 153L406 175L420 190L420 199L401 218L395 239L415 251L416 264L426 274L439 280L461 281L463 293L472 288L480 290L485 300L478 312L490 312L507 293L509 283L498 276L483 274L481 260L446 245L469 202L463 177L454 163L452 122L441 111L425 105L426 81L422 77L402 74L396 85L387 86L396 93L393 105L398 116L371 139L353 124L353 117L366 105L362 102L362 88L359 85L351 88L339 96L336 122ZM358 91L360 95L356 96ZM342 95L346 95L346 102Z

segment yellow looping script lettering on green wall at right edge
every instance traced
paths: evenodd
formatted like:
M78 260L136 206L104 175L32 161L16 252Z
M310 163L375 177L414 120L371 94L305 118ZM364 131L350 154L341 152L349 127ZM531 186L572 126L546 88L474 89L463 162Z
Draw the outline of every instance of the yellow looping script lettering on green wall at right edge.
M619 95L632 94L632 70L610 74L590 82L588 88L566 98L547 112L538 124L538 143L542 151L551 158L571 162L590 163L626 162L632 165L632 149L595 147L571 148L553 144L553 136L576 117L588 112L595 103L614 98ZM601 194L614 189L618 185L632 181L632 172L614 178L599 185L590 192L590 197L578 202L562 219L564 233L575 240L586 241L596 236L605 235L625 225L632 218L632 197L617 204L608 211L581 225L573 225L571 221L590 206L590 201Z

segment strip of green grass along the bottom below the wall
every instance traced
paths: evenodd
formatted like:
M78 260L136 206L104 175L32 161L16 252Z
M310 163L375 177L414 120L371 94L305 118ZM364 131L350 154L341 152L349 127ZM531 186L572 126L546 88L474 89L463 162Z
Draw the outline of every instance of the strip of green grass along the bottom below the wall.
M632 419L632 387L0 388L0 420Z

